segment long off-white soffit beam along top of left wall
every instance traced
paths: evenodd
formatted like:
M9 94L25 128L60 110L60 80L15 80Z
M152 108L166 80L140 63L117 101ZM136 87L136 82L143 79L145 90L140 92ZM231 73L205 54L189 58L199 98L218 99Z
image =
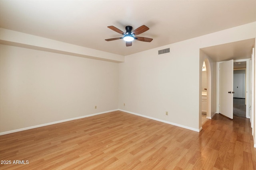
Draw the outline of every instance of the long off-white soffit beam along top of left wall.
M124 56L0 28L0 43L64 55L123 63Z

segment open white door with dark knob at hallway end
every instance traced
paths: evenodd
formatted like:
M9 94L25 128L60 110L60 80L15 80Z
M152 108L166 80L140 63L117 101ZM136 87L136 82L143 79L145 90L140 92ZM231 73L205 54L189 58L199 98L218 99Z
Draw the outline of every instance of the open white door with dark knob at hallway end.
M233 64L233 60L224 61L219 67L219 112L230 119L233 119Z

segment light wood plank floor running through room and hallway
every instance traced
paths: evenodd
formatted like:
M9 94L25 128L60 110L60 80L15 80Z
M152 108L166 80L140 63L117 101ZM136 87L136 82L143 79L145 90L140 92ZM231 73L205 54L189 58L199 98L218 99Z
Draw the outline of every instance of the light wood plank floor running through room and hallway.
M0 169L253 170L250 121L216 114L198 133L122 111L0 136Z

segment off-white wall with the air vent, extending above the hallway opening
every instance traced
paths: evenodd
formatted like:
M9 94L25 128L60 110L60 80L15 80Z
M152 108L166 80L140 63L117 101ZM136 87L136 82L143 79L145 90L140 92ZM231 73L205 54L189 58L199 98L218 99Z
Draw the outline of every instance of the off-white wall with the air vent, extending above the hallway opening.
M199 130L200 48L255 38L255 30L256 22L126 56L119 64L119 109ZM170 53L158 55L169 47Z

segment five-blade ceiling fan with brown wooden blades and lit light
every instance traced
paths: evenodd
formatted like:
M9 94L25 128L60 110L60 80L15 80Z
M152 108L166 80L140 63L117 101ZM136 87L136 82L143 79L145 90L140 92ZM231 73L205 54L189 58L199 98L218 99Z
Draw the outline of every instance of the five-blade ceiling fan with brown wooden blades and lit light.
M113 41L117 39L124 39L126 41L126 47L132 46L132 41L138 40L138 41L144 41L144 42L151 42L153 39L152 38L146 38L146 37L137 37L136 35L139 35L141 33L144 33L145 31L148 31L148 27L145 25L142 25L132 31L132 26L126 26L126 33L121 31L120 29L114 27L114 26L108 26L108 28L112 29L113 31L116 31L117 33L120 33L124 35L123 37L118 37L118 38L110 38L110 39L105 39L106 41ZM136 37L135 37L136 36Z

